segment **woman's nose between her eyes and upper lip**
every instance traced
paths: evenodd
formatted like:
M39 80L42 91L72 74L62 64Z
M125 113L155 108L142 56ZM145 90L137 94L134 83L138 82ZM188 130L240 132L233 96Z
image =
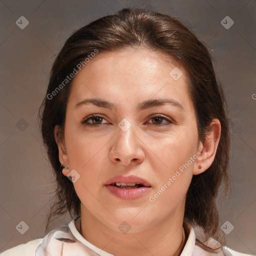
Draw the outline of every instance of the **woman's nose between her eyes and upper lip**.
M126 131L119 127L117 129L116 135L111 140L113 144L109 153L110 160L125 166L142 163L145 159L143 143L134 133L133 125Z

